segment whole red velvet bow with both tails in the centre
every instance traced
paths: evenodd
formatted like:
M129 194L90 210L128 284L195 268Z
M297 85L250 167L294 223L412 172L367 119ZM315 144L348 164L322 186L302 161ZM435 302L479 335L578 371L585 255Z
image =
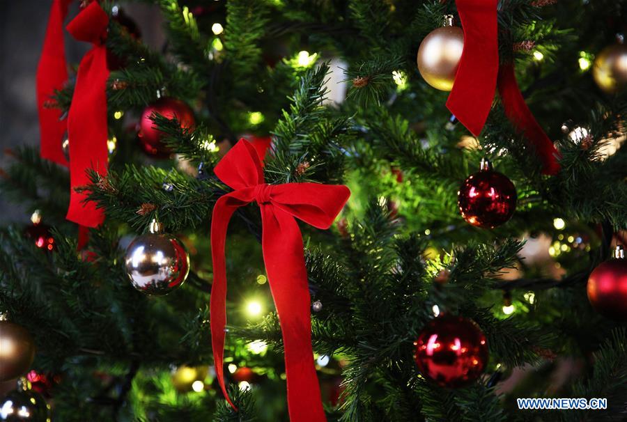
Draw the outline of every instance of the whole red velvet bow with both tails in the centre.
M223 368L226 228L235 210L256 201L261 208L263 260L283 333L290 419L294 422L325 421L311 350L307 269L295 217L316 228L329 228L348 201L350 191L346 186L315 183L267 185L259 156L245 139L226 153L215 167L215 174L235 189L217 200L211 221L211 341L222 392L233 406L224 386Z

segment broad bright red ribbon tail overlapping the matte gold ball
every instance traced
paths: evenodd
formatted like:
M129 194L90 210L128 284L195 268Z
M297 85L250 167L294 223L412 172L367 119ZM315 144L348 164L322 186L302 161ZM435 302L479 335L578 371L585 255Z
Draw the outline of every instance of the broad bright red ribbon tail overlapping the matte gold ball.
M474 136L492 108L499 69L497 0L457 0L464 49L447 107Z

